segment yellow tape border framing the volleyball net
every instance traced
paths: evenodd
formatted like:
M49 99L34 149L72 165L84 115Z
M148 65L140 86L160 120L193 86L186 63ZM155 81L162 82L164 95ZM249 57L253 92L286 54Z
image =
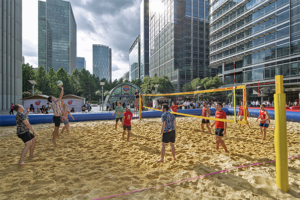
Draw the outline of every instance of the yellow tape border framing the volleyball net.
M236 89L243 89L243 108L244 108L244 121L237 121L236 116L236 99L235 99L235 90ZM233 90L234 92L234 120L227 120L227 119L217 119L217 118L208 118L203 116L196 116L196 115L189 115L184 113L175 113L171 112L172 114L177 114L181 116L186 117L193 117L193 118L200 118L205 120L214 120L214 121L220 121L220 122L229 122L229 123L237 123L237 124L248 124L247 122L247 109L246 109L246 85L239 85L239 86L233 86L233 87L225 87L225 88L217 88L217 89L207 89L207 90L201 90L201 91L189 91L189 92L179 92L179 93L167 93L167 94L143 94L143 108L151 109L154 111L162 111L159 109L154 109L150 107L145 106L145 98L144 96L170 96L170 95L184 95L184 94L196 94L196 93L206 93L206 92L214 92L214 91L226 91L226 90Z

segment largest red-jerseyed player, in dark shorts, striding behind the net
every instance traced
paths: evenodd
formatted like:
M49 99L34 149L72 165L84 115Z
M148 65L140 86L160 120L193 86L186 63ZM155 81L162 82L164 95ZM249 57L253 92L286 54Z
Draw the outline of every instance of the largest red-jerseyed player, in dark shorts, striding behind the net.
M222 111L222 103L218 102L216 105L216 114L215 114L215 118L218 119L226 119L226 113L224 111ZM216 131L215 131L215 135L216 135L216 150L219 149L219 145L221 144L222 147L224 148L226 153L229 153L229 151L226 148L225 143L222 140L222 137L224 135L226 135L226 129L227 129L227 122L219 122L219 121L215 121L214 124L212 124L211 127L213 127L216 124Z

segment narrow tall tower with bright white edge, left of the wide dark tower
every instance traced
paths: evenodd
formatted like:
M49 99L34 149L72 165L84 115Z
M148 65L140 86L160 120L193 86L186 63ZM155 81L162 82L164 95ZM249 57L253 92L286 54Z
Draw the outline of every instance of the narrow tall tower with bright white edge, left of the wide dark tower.
M149 76L149 0L142 0L140 5L140 78Z

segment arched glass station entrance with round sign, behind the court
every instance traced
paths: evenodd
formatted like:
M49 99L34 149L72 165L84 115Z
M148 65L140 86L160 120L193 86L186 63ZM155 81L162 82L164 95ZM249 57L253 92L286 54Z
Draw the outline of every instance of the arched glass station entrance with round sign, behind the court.
M143 94L142 90L135 84L130 82L122 83L116 87L114 87L110 94L106 96L105 98L105 105L110 102L112 104L113 102L125 102L125 104L130 101L130 104L134 104L135 96L134 93L136 92L136 89L139 90L141 95Z

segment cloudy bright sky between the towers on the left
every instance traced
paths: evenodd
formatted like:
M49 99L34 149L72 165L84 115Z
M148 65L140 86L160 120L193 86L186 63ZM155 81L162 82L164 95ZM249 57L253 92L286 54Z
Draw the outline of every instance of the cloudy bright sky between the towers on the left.
M129 48L140 34L142 0L70 0L77 25L77 57L92 73L92 45L112 48L112 80L129 71ZM23 56L38 67L38 0L22 1ZM45 1L44 1L45 2Z

